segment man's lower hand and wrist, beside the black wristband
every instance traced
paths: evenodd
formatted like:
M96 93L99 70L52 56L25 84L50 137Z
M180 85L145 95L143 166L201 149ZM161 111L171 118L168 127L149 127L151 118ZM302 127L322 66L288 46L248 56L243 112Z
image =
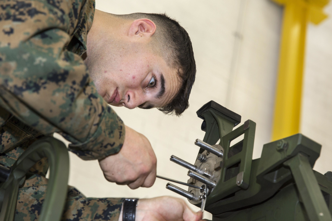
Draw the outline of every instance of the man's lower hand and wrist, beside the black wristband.
M139 199L135 221L198 221L203 217L201 211L195 213L184 200L161 196L151 199ZM119 221L122 221L122 210Z

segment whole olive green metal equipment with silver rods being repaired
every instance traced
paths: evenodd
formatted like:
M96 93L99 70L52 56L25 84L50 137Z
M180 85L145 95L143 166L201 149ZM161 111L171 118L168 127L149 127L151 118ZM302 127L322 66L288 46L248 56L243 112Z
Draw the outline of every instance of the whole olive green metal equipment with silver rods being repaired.
M332 221L332 172L312 170L320 144L295 134L265 144L261 158L252 160L255 122L247 120L233 130L241 116L213 101L197 115L206 134L195 142L201 147L195 164L175 156L171 161L188 168L188 184L201 188L166 188L212 213L215 221Z

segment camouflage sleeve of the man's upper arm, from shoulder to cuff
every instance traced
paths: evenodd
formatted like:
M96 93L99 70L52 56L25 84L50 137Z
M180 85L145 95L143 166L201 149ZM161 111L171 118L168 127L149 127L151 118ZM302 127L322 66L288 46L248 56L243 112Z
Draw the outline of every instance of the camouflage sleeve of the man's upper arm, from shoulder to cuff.
M67 31L33 25L0 34L0 105L43 134L61 132L84 160L119 152L124 123L97 93L83 60L65 50Z

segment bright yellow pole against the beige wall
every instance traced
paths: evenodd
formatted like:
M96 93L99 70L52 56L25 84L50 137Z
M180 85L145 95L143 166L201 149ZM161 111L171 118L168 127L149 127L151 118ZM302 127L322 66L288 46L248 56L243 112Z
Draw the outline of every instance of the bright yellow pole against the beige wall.
M298 133L308 21L320 23L329 0L272 0L284 6L272 140Z

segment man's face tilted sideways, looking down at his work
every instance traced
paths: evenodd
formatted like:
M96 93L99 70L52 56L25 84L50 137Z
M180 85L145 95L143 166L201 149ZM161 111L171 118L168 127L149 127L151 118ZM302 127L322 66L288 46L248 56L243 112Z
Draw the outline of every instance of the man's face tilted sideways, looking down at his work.
M181 86L177 69L150 50L131 48L104 53L86 62L98 93L113 106L149 109L164 107Z

